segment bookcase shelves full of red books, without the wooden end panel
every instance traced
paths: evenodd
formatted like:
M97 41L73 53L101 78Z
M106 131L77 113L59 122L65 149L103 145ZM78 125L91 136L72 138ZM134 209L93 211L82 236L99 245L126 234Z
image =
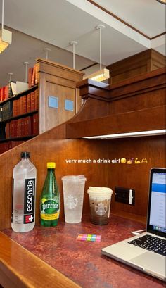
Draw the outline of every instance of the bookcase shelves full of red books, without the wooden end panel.
M1 101L0 154L39 134L38 107L38 85Z

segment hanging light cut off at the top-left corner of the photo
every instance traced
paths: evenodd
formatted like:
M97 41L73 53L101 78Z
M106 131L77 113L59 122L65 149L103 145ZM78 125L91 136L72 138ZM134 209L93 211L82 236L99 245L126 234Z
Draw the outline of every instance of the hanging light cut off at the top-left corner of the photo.
M3 52L9 44L11 44L11 31L4 29L4 0L2 0L2 16L0 30L0 53Z

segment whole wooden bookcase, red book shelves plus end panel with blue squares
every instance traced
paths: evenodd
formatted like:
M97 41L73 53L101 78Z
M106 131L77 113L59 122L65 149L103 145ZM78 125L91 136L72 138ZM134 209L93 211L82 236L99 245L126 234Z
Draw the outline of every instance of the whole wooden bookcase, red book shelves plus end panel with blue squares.
M41 134L72 118L81 106L79 89L77 89L76 84L82 80L84 73L44 59L37 59L35 67L37 67L38 84L35 83L29 89L0 102L0 154L8 150L7 145L3 149L2 144L4 142L26 141L37 134ZM49 105L49 97L58 99L57 108ZM71 111L65 109L65 100L72 102L73 109ZM7 113L5 112L3 116L5 118L2 118L1 107L4 106L7 106L4 109L4 111L7 110ZM28 128L30 134L25 135L25 127L22 126L23 131L20 132L19 130L16 137L13 137L11 131L16 129L13 128L13 125L19 125L20 129L20 125L24 125L24 123L20 124L20 121L24 121L25 118L30 118L31 126ZM19 124L15 124L15 121L19 121Z

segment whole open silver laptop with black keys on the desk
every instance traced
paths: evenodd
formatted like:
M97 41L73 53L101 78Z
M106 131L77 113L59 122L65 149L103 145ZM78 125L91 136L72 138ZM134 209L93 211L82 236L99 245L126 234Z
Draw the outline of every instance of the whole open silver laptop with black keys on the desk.
M101 253L166 281L166 169L152 168L146 232L101 249Z

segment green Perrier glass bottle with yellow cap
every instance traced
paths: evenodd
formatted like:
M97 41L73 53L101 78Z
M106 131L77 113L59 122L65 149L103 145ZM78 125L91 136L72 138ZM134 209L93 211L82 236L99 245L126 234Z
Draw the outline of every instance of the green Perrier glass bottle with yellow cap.
M47 175L40 199L41 225L56 226L60 213L60 194L56 183L55 162L47 163Z

